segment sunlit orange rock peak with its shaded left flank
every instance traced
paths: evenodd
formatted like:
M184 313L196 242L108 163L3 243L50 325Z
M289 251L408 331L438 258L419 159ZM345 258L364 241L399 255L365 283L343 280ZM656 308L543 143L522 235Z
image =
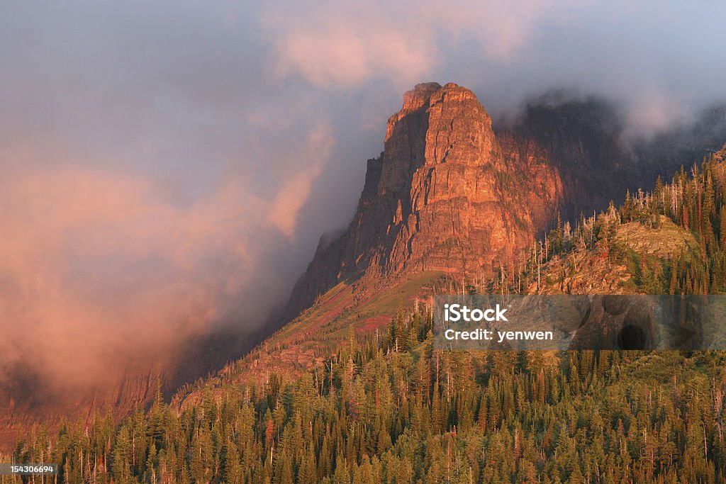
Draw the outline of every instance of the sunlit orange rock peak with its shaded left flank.
M343 279L417 271L471 277L509 266L556 217L563 183L533 142L500 142L468 89L419 84L388 120L348 229L321 245L293 292L301 308Z

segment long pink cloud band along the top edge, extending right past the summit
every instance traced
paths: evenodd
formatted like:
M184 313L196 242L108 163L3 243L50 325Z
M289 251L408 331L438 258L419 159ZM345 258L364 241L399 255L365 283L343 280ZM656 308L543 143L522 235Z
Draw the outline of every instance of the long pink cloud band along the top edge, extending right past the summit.
M295 9L278 1L263 9L261 23L274 46L277 77L299 74L317 86L338 89L372 78L410 85L431 75L446 46L467 38L488 57L512 57L550 4L323 0L314 8Z

